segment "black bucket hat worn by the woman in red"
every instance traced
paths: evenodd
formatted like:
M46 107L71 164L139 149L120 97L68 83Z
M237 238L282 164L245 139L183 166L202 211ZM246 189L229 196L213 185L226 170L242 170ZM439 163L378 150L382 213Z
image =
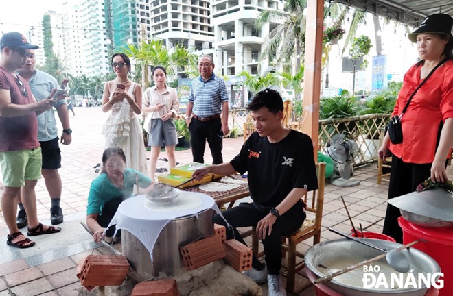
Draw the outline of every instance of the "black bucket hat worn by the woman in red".
M453 18L448 14L432 14L426 16L426 18L421 21L421 25L412 33L408 34L410 41L417 42L417 34L422 33L438 33L445 34L453 38L452 34L453 27Z

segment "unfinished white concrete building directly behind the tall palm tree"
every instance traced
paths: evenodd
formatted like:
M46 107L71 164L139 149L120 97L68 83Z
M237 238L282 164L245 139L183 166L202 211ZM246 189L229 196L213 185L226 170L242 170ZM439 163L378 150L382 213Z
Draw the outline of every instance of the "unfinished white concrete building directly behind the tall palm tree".
M263 10L281 10L280 3L279 0L213 0L214 61L222 66L223 75L237 75L241 71L258 73L264 40L278 23L271 21L258 30L255 20ZM263 60L259 66L261 72L266 71L268 60Z

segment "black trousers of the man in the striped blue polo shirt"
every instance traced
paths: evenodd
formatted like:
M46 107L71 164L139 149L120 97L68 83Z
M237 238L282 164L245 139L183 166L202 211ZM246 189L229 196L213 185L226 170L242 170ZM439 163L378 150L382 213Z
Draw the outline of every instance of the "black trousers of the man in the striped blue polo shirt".
M190 145L194 162L205 163L206 141L211 149L212 164L223 163L222 158L222 121L220 118L211 121L199 121L192 118L189 125Z

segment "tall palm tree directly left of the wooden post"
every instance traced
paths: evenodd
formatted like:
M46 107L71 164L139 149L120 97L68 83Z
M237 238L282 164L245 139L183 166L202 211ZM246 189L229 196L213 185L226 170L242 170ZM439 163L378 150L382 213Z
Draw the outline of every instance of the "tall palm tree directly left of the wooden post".
M286 0L284 11L264 10L257 20L255 27L261 29L264 24L271 20L281 21L266 36L266 46L262 51L260 60L276 58L277 65L283 65L283 69L290 70L295 57L295 69L300 69L301 58L305 52L305 16L303 10L307 8L306 0ZM278 51L278 55L277 55Z

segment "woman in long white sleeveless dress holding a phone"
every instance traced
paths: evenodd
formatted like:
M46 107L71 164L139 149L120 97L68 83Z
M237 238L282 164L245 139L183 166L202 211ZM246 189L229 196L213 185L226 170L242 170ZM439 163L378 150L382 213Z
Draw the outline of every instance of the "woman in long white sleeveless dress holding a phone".
M121 148L128 167L146 173L146 150L137 117L141 114L141 86L128 79L128 56L115 53L111 61L117 78L106 82L102 96L102 111L111 111L102 128L106 137L105 148Z

